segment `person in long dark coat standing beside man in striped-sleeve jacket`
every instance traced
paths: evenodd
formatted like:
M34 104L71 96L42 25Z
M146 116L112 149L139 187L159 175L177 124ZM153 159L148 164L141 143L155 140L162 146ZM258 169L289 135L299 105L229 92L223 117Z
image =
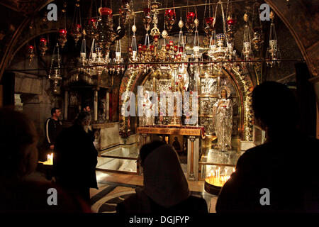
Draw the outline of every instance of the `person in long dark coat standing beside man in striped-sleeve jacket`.
M87 204L90 201L89 189L98 189L95 172L98 152L90 135L84 131L90 121L91 115L82 111L74 125L58 135L53 162L57 182L79 194Z

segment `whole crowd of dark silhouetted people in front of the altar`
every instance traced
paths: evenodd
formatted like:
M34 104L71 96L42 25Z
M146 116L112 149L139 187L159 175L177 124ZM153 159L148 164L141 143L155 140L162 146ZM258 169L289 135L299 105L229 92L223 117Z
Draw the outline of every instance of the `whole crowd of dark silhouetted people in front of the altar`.
M298 131L295 97L284 84L264 82L252 93L252 109L254 123L266 131L267 141L239 158L218 195L217 213L318 212L319 140ZM55 151L55 181L48 182L35 172L35 125L21 112L0 110L1 212L91 212L89 189L97 189L98 155L89 129L91 115L80 112L73 126L62 130L60 114L60 109L52 109L45 123L46 147ZM144 184L117 205L118 213L208 212L205 199L191 196L172 146L153 141L142 146L139 158ZM59 194L57 206L47 202L52 188ZM269 204L260 202L263 188L269 189Z

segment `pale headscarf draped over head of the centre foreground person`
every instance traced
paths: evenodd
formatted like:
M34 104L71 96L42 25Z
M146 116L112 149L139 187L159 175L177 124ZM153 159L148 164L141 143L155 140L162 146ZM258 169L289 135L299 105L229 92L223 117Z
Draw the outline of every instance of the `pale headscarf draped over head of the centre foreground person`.
M169 207L190 196L179 158L170 145L162 145L153 150L144 163L143 191L150 199L160 206Z

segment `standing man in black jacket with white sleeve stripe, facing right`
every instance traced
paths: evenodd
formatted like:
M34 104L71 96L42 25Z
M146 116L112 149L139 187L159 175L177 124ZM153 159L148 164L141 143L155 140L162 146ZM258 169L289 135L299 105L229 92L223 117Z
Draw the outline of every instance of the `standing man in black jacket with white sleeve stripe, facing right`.
M60 121L61 111L59 108L51 109L51 117L47 118L45 121L45 153L42 155L47 155L46 153L49 151L53 151L55 149L55 140L57 135L62 131L62 121Z

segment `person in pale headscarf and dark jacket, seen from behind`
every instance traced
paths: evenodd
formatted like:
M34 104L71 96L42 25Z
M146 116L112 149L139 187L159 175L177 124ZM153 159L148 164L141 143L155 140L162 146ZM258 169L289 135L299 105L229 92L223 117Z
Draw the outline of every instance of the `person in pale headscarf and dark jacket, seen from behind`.
M118 204L121 214L207 213L205 199L191 196L181 170L178 155L172 146L162 141L143 145L140 149L144 186L136 194Z

